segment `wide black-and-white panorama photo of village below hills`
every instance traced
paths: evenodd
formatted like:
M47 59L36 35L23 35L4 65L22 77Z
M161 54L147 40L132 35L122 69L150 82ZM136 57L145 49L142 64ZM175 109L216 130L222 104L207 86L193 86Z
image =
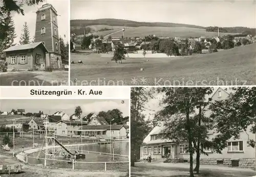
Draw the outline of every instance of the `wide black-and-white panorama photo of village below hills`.
M254 85L255 6L71 0L71 85Z

